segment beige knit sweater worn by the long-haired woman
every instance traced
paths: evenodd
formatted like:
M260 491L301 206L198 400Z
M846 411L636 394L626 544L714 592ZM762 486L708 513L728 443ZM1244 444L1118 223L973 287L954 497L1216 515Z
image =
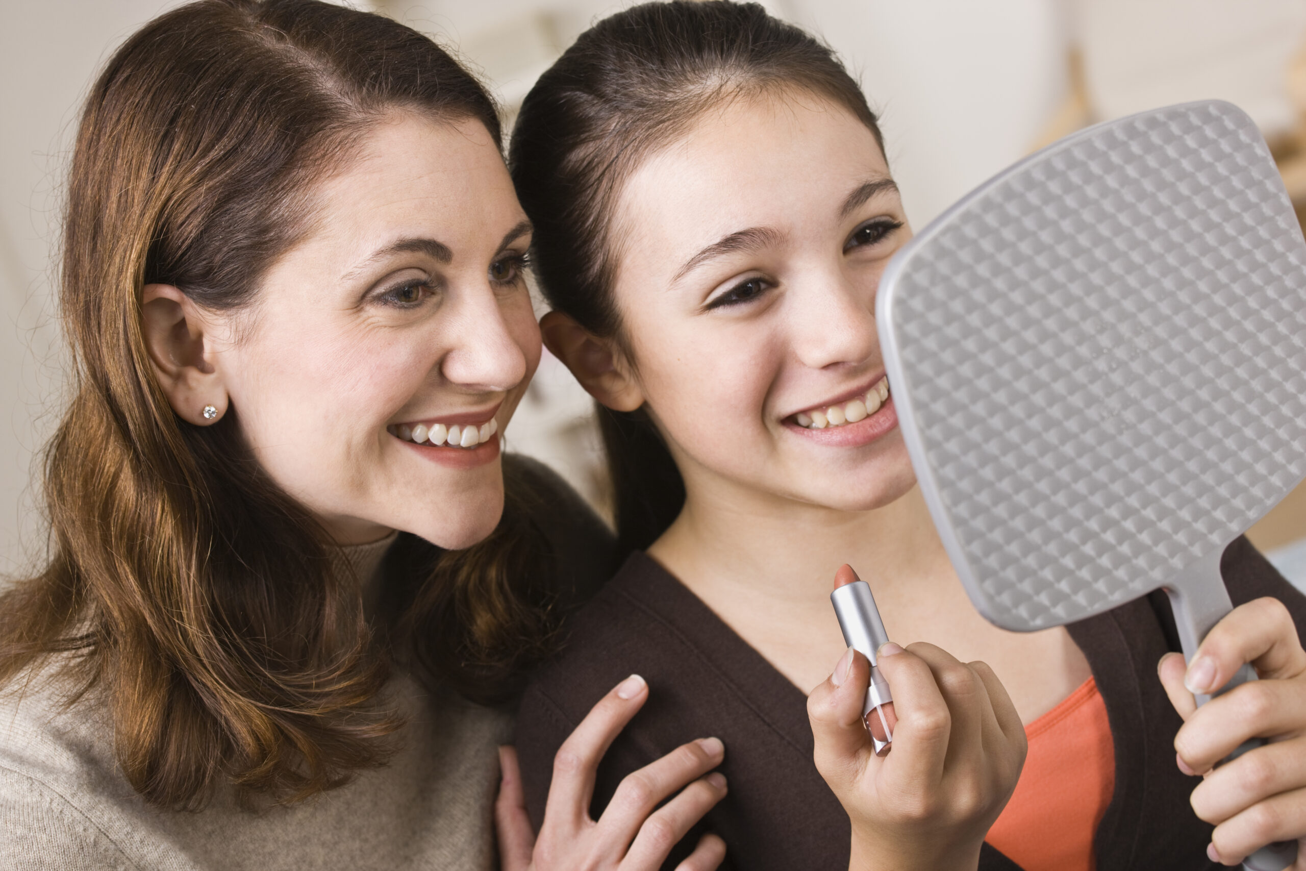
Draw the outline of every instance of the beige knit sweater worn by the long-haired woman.
M392 541L345 548L355 576L375 584ZM260 814L230 793L199 814L148 807L116 770L104 705L64 710L50 682L17 684L0 696L0 870L494 866L496 747L511 740L511 717L432 696L407 675L385 688L409 716L388 765Z

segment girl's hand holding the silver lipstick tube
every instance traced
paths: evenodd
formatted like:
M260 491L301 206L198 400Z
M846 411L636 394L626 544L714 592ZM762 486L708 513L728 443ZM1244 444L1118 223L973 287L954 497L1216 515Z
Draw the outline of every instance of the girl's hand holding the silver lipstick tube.
M807 699L816 769L853 824L855 871L973 870L1025 761L1025 729L993 670L931 644L887 644L892 751L862 722L870 663L849 650Z

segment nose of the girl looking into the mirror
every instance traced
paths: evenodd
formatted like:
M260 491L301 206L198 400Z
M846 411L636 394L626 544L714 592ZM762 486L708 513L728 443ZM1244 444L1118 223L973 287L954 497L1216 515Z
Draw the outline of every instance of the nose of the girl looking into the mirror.
M790 312L793 347L811 368L866 362L879 349L875 287L857 286L841 273L814 276Z

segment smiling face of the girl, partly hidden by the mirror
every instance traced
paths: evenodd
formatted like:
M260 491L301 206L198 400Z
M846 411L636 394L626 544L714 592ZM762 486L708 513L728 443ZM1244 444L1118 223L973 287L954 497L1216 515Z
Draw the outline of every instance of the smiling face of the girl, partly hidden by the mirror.
M865 511L913 486L874 320L910 229L853 115L807 94L708 112L632 175L614 238L633 380L691 494Z

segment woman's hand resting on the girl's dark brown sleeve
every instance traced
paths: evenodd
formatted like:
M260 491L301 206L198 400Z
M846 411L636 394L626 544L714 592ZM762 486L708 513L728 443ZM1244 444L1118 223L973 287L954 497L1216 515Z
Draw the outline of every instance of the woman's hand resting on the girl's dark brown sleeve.
M644 679L627 678L563 742L554 757L538 837L526 815L517 752L499 748L503 780L495 802L495 829L503 871L656 871L693 824L725 797L725 777L712 772L721 764L725 748L716 738L703 738L628 774L599 819L590 819L598 763L646 699ZM662 804L673 794L675 798ZM677 871L712 871L725 854L720 837L704 834Z

